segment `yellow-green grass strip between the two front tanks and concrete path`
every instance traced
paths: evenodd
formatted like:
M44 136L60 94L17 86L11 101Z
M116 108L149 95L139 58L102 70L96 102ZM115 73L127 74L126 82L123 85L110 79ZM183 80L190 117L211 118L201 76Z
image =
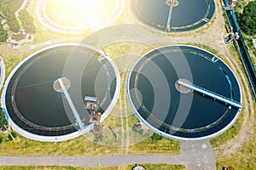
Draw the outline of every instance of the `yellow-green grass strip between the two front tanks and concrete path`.
M84 136L65 142L49 143L26 139L14 133L15 141L8 134L0 133L1 156L106 156L125 155L120 147L107 146L91 142ZM143 148L143 150L142 150ZM8 150L8 151L6 151ZM176 155L179 153L180 144L170 139L152 142L150 138L141 143L129 146L128 155L165 154Z

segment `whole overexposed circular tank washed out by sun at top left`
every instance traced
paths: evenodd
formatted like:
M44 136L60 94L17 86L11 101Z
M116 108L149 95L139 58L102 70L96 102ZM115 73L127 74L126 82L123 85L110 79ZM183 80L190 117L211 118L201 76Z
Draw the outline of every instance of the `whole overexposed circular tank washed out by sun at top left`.
M36 14L52 31L84 34L111 24L122 13L123 0L39 0Z

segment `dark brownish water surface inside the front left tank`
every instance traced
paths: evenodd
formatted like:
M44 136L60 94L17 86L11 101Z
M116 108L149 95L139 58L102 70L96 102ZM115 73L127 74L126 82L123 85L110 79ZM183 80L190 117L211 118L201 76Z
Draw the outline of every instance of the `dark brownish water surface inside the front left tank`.
M66 99L53 88L55 80L67 77L71 82L68 93L84 124L89 124L84 96L97 97L103 113L115 92L113 67L108 59L99 60L99 56L102 57L93 50L74 46L49 48L32 56L9 82L6 105L12 120L31 133L61 135L76 131ZM72 65L67 64L68 59ZM84 63L82 69L73 65L76 62Z

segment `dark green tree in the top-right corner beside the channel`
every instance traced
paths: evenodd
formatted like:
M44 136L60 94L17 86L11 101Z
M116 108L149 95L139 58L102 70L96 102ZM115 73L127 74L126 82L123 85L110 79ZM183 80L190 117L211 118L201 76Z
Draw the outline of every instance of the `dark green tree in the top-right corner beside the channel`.
M252 1L243 8L242 14L238 18L241 30L252 36L256 34L256 1Z

